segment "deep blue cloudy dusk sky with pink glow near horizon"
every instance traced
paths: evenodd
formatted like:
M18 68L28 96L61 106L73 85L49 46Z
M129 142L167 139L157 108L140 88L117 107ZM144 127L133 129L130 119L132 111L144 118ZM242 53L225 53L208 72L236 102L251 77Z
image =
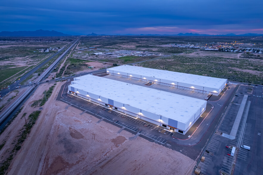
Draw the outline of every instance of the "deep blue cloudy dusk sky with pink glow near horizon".
M8 0L0 3L0 31L262 34L262 7L262 0Z

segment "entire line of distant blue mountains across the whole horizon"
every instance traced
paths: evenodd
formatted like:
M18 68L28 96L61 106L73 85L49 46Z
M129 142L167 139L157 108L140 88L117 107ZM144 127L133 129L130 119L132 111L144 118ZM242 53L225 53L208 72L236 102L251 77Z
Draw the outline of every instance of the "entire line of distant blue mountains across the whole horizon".
M82 35L80 33L73 33L73 35ZM69 34L64 34L62 32L57 32L55 30L49 31L49 30L36 30L36 31L15 31L15 32L7 32L7 31L3 31L0 32L0 36L29 36L29 37L33 37L33 36L72 36ZM91 34L87 34L86 36L106 36L104 34L96 34L96 33L91 33ZM119 36L119 35L118 35ZM138 36L136 34L126 34L125 36ZM178 34L172 34L172 35L168 35L168 34L164 34L164 35L160 35L160 34L141 34L139 36L263 36L263 34L258 34L258 33L245 33L245 34L239 34L236 35L234 33L230 33L230 34L225 34L225 35L208 35L208 34L199 34L199 33L178 33Z

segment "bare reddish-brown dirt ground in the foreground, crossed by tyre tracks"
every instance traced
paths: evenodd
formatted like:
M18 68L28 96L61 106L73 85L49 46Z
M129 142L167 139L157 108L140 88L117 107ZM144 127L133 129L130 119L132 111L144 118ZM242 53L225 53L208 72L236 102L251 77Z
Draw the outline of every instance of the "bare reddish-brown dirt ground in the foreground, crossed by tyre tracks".
M190 174L196 162L177 151L149 142L119 127L101 121L74 107L56 101L62 83L58 82L29 136L14 157L8 174ZM41 85L42 86L42 85ZM0 136L7 142L5 154L16 132L24 125L21 115L33 100L51 86L40 87L25 103L12 124ZM66 109L66 107L68 107ZM27 118L26 116L26 118ZM161 168L160 168L161 167Z

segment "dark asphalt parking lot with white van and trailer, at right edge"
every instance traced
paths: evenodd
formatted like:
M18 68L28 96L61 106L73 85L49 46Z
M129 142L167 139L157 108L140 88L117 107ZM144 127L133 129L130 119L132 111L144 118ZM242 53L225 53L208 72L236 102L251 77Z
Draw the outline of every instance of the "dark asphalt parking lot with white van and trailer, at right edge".
M246 93L248 86L240 86L229 105L224 117L218 125L217 132L210 139L203 156L205 161L198 164L204 174L219 174L224 171L231 173L233 165L234 174L263 174L262 169L262 138L263 127L262 117L262 88L254 87L252 94ZM239 110L244 95L248 95L245 109L242 113L240 123L236 126L236 137L231 140L222 137L222 133L229 134L234 124L236 114ZM250 105L249 105L250 104ZM248 111L246 107L249 107ZM246 118L247 115L247 118ZM241 145L250 146L250 150L241 148ZM235 146L236 160L231 154L231 150L226 146ZM261 157L261 158L260 158ZM233 162L235 162L233 164Z

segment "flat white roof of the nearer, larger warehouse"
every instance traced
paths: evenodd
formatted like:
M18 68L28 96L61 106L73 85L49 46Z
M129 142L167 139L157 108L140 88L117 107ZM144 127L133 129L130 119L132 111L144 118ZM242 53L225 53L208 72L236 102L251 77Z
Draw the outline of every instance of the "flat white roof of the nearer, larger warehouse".
M205 100L142 87L94 75L76 78L71 87L186 124Z

